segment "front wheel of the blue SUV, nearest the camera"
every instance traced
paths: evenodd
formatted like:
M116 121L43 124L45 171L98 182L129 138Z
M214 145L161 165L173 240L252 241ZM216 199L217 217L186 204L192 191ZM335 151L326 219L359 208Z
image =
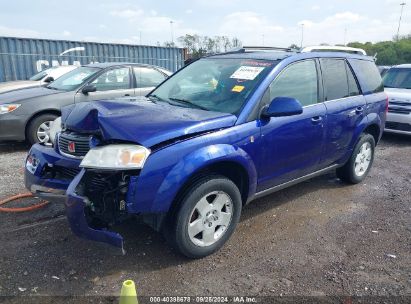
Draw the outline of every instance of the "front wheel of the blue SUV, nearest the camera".
M183 255L201 258L220 249L240 219L237 186L223 176L201 178L177 202L166 237Z

